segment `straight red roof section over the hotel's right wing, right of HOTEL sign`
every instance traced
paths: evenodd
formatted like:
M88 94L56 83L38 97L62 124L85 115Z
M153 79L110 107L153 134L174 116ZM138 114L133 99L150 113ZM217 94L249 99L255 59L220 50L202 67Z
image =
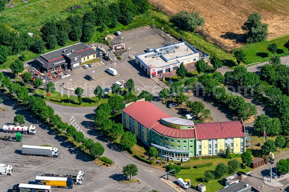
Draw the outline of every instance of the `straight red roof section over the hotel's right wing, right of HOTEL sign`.
M196 139L221 139L245 137L242 121L197 123Z

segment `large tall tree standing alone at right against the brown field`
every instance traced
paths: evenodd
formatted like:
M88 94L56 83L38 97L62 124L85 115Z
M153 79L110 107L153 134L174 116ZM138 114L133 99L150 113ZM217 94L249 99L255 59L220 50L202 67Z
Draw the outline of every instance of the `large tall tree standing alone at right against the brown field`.
M245 31L247 43L262 42L268 37L268 24L261 22L262 16L254 12L241 27Z

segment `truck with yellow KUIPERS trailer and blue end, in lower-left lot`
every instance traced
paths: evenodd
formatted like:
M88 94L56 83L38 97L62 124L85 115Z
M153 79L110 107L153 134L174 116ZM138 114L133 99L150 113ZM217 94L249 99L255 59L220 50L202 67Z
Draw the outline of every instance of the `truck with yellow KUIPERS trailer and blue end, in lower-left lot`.
M37 185L50 185L51 187L69 188L72 189L74 182L67 177L43 177L36 176L35 183Z

